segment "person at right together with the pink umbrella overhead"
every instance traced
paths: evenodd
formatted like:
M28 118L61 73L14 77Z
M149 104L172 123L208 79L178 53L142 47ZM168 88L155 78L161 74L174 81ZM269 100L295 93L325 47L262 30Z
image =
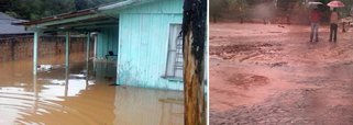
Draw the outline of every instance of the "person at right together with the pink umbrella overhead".
M341 1L331 1L328 3L328 5L331 8L331 16L330 16L330 42L337 42L337 34L338 34L338 22L339 22L339 13L337 11L337 8L342 8L344 4Z

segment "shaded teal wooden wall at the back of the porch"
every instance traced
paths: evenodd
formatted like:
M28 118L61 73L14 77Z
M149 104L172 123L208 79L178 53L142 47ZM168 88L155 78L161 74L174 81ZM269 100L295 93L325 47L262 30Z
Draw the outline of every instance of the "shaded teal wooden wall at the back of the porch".
M102 59L108 54L109 50L112 50L114 54L118 54L118 37L119 37L119 24L112 27L100 29L98 33L97 42L97 58Z

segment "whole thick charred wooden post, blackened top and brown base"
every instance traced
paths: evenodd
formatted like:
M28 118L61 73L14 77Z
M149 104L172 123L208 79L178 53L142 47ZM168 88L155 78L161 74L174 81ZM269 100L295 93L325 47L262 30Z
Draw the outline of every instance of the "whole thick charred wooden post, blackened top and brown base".
M185 0L183 19L185 125L206 125L207 0Z

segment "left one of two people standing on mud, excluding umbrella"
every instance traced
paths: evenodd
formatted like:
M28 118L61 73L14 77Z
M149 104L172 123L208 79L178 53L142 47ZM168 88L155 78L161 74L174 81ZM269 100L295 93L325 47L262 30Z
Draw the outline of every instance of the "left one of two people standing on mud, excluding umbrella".
M310 42L315 38L315 42L319 42L319 22L321 19L321 12L318 8L313 9L310 13L311 21L311 33L310 33Z

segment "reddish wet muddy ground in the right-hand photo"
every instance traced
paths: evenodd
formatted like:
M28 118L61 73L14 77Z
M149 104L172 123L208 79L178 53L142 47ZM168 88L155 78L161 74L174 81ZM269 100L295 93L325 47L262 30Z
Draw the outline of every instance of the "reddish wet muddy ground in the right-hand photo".
M339 29L339 31L341 31ZM211 125L352 125L352 31L210 24Z

